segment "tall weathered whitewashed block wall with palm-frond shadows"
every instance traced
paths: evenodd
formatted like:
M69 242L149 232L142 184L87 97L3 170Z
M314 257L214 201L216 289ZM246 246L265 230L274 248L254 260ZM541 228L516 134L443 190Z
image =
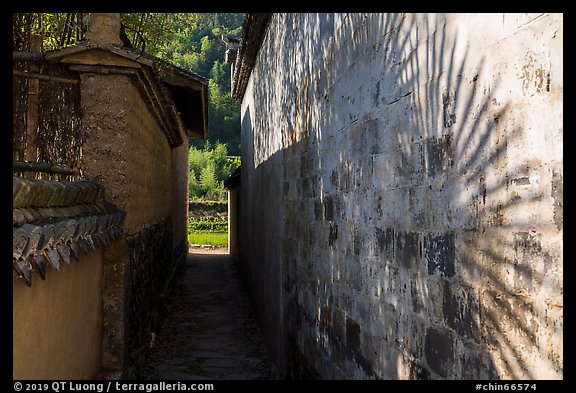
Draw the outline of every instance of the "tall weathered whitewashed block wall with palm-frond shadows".
M289 375L563 377L562 24L273 16L241 245Z

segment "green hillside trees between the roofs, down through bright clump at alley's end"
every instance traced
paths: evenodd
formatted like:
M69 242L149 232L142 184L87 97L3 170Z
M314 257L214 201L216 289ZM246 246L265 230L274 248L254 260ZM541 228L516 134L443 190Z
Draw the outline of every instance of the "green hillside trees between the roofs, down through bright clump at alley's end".
M123 14L127 35L146 52L208 78L208 138L189 140L191 198L223 199L222 182L240 166L240 106L231 97L221 36L240 38L244 14ZM132 32L132 36L130 35Z

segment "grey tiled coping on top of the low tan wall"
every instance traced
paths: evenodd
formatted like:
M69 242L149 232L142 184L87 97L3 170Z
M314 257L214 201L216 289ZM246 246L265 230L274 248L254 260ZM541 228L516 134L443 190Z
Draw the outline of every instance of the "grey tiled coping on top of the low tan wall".
M13 176L12 203L12 266L28 286L32 272L45 279L48 265L59 270L124 235L125 213L105 203L95 183Z

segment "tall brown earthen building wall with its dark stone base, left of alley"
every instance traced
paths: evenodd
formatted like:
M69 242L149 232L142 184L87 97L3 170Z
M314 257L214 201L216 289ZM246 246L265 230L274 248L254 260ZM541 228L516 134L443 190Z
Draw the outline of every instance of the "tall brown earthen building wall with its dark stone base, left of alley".
M104 366L122 369L148 345L161 319L159 295L186 255L187 141L170 147L130 77L85 74L82 81L85 176L126 212L124 251L110 250L104 274L111 315L104 335L113 349L104 348Z

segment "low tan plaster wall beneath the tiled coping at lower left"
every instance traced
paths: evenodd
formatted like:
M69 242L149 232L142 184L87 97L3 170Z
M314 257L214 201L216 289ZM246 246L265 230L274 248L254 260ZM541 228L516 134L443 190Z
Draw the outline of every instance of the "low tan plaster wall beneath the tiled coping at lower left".
M13 283L14 379L91 379L100 370L102 248L31 287Z

